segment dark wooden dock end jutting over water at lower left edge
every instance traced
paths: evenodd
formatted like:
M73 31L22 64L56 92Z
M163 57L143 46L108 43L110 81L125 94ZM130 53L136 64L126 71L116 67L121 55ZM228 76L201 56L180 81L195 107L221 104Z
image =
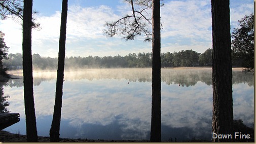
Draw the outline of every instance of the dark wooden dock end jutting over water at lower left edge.
M20 121L19 113L0 113L0 130Z

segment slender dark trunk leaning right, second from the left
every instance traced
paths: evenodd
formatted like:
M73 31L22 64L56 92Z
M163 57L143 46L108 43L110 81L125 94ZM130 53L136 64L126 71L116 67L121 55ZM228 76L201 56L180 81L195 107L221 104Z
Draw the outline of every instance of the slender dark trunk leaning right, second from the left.
M50 129L50 141L59 141L61 107L62 107L62 89L64 79L64 64L65 64L65 43L66 43L66 22L67 22L67 0L62 0L60 38L59 38L59 56L58 70L56 81L56 96L54 104L54 112L52 119L52 127Z

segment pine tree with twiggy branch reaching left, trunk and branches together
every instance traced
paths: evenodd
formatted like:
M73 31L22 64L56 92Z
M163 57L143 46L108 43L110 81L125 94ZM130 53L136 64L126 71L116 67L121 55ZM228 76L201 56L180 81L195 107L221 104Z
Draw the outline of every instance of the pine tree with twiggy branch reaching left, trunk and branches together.
M160 0L134 1L140 10L134 9L133 0L126 0L131 4L132 14L116 22L106 23L105 33L113 37L116 34L125 35L124 39L133 40L135 36L145 34L144 41L152 40L152 119L151 141L161 141L161 23ZM152 17L148 17L147 9L152 9ZM148 17L148 18L147 18ZM152 20L152 22L151 22ZM149 26L152 25L152 33ZM151 37L152 36L152 37Z

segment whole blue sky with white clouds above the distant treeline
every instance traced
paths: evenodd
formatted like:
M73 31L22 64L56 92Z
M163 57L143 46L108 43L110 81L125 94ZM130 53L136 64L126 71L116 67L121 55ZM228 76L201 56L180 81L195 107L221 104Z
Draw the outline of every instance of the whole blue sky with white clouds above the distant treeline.
M212 47L210 1L162 1L161 52L192 49L203 53ZM32 53L57 57L60 31L61 0L34 0L35 18L41 30L32 31ZM230 0L231 32L237 21L253 13L253 1ZM152 43L143 37L125 41L122 36L104 35L105 22L130 14L129 4L123 0L69 0L66 56L125 56L129 53L151 52ZM22 53L22 26L11 19L0 21L9 53Z

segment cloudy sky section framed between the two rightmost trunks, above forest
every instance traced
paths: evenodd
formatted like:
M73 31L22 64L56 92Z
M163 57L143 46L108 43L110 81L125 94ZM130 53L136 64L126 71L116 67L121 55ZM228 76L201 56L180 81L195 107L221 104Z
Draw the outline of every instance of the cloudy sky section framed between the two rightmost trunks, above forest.
M211 48L209 1L170 1L161 8L163 30L161 52Z

